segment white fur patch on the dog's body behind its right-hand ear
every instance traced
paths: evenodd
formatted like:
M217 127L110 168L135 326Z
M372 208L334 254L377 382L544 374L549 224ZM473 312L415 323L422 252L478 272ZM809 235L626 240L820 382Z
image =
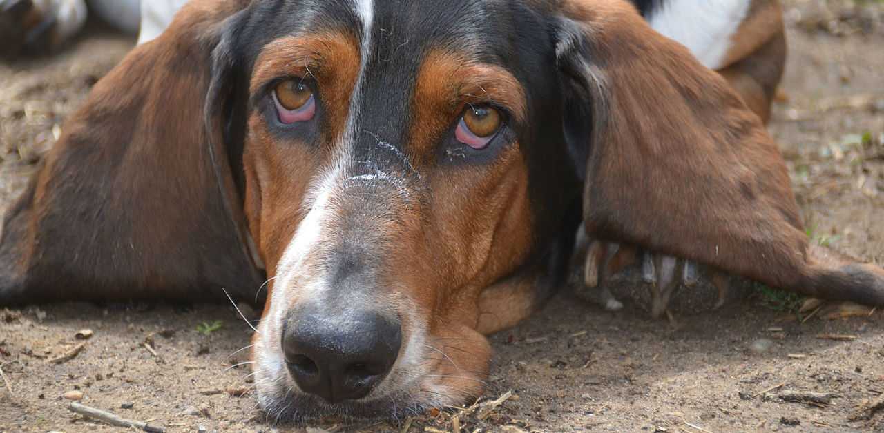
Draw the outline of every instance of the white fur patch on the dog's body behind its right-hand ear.
M721 64L731 37L746 18L752 0L666 0L651 12L648 23L678 41L710 69Z

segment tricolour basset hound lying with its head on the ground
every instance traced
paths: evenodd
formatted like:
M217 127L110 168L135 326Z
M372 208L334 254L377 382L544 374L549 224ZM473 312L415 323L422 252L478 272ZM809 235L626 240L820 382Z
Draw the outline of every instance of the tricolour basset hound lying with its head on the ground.
M484 335L560 286L579 227L884 304L884 271L808 242L765 130L778 6L707 3L194 0L11 207L0 304L257 291L287 420L481 394Z

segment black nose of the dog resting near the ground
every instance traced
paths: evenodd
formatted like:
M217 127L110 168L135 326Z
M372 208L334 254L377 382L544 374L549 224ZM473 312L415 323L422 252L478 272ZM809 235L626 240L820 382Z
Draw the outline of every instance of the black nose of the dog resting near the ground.
M373 312L330 317L304 310L289 314L282 333L288 370L301 390L331 403L359 399L392 369L398 323Z

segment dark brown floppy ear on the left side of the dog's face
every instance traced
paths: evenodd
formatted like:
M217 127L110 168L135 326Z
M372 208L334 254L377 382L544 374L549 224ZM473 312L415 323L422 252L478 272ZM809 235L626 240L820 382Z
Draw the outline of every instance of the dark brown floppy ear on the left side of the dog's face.
M0 304L255 299L226 152L242 134L220 118L239 109L227 34L246 4L191 2L95 85L6 216Z

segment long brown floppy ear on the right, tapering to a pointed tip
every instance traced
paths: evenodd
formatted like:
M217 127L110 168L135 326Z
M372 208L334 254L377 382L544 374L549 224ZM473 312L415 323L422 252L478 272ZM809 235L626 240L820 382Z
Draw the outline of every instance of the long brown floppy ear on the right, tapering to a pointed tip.
M781 154L723 78L621 0L567 0L557 55L593 237L807 295L884 304L884 272L808 244Z

